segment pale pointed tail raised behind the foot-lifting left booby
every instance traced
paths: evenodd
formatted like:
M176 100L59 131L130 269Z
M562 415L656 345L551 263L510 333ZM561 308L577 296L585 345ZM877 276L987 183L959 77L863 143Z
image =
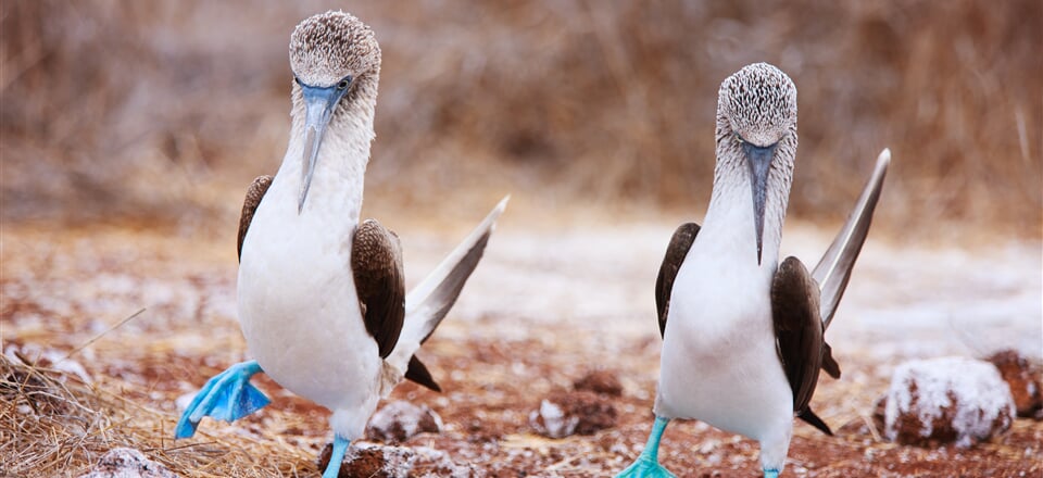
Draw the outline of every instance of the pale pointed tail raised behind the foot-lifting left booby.
M405 297L405 320L394 351L388 357L401 370L407 368L413 353L419 349L445 314L456 303L460 291L475 271L495 228L497 218L507 206L510 196L503 198L492 212L463 242L449 253L419 285Z

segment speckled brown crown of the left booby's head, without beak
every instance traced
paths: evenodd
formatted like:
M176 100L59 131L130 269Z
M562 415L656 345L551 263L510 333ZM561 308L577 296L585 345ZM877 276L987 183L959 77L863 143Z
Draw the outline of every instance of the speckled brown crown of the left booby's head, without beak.
M380 73L380 46L366 24L329 11L301 22L290 36L290 68L301 83L330 87Z

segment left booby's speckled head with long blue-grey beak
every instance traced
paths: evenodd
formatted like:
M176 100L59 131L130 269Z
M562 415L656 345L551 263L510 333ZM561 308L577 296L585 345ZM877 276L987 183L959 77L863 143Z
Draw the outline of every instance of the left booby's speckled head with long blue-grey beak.
M352 102L376 99L380 46L373 30L359 18L330 11L304 20L293 30L290 67L300 87L305 115L300 212L326 126ZM372 109L372 104L368 106Z

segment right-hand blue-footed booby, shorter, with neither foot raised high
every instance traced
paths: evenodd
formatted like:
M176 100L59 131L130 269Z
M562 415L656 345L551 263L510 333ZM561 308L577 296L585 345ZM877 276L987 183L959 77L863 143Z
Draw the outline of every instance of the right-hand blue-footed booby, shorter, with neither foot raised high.
M779 264L796 154L796 87L766 63L720 85L717 165L703 226L681 225L655 284L663 336L655 423L618 476L669 477L658 464L673 418L759 441L765 477L782 470L793 417L832 435L809 402L819 369L840 367L824 339L862 250L891 153L884 150L846 224L810 274Z

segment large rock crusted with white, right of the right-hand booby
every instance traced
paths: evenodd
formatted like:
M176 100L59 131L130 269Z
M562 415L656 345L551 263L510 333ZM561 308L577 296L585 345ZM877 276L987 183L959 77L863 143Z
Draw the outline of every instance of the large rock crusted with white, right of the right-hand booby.
M969 446L1010 428L1014 399L992 364L972 358L909 361L894 370L884 435L907 444Z

